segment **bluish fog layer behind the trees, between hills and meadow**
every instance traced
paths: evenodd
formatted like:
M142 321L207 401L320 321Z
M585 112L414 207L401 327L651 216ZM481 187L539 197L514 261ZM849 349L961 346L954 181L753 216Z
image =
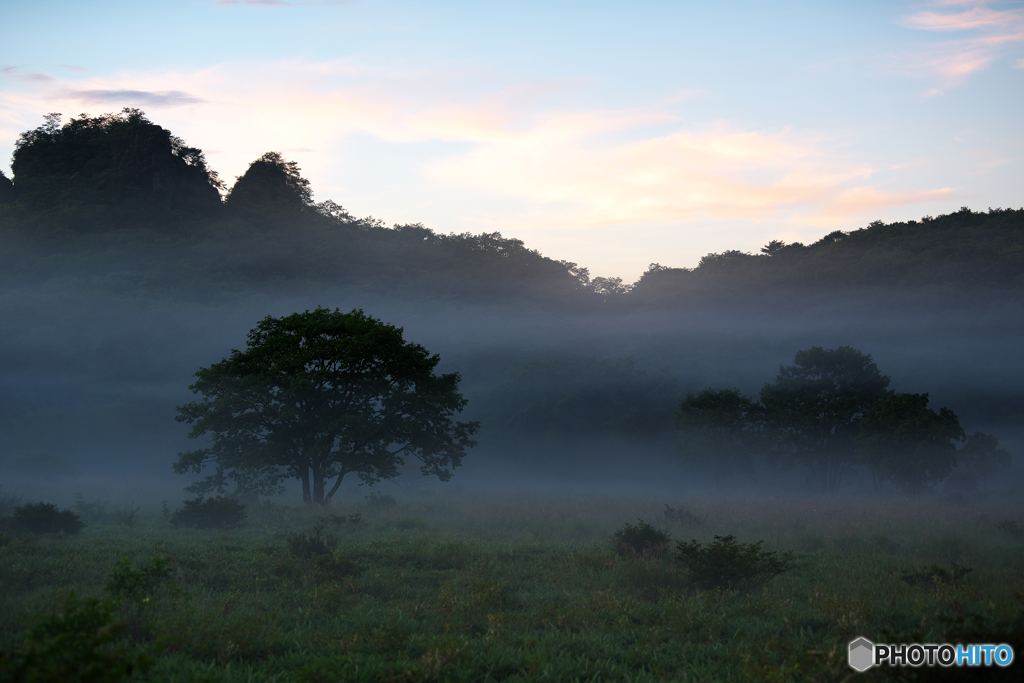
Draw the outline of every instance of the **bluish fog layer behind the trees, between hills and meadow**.
M197 445L185 437L187 426L174 420L174 407L195 398L187 389L193 373L245 348L246 333L261 317L317 305L364 308L438 353L441 372L461 373L470 400L463 418L484 424L480 445L453 482L477 488L683 485L687 473L678 463L671 423L678 399L707 386L737 387L756 396L779 365L792 364L798 349L812 345L850 345L870 353L892 377L891 388L929 392L933 409L948 405L969 433L995 433L1011 453L1020 454L1024 444L1024 322L1002 305L950 310L920 296L899 304L892 297L829 296L774 307L572 312L344 291L97 301L53 287L23 290L2 301L0 457L59 454L82 475L173 476L176 454ZM568 356L628 356L639 371L668 374L679 392L664 405L664 429L621 438L527 434L512 444L488 429L488 418L496 416L486 408L500 404L513 369ZM612 389L595 387L598 393ZM799 484L799 476L764 468L757 474L762 484Z

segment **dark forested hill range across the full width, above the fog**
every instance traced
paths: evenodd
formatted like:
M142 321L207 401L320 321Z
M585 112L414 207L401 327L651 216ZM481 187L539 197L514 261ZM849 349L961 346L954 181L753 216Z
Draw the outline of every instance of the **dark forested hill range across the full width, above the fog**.
M499 233L387 227L313 203L298 167L263 155L228 188L190 147L137 110L20 135L0 175L8 284L74 276L133 296L353 288L467 301L642 307L899 288L1018 295L1024 210L881 221L812 245L709 254L695 268L652 264L635 285L591 278ZM225 196L222 199L221 193Z

